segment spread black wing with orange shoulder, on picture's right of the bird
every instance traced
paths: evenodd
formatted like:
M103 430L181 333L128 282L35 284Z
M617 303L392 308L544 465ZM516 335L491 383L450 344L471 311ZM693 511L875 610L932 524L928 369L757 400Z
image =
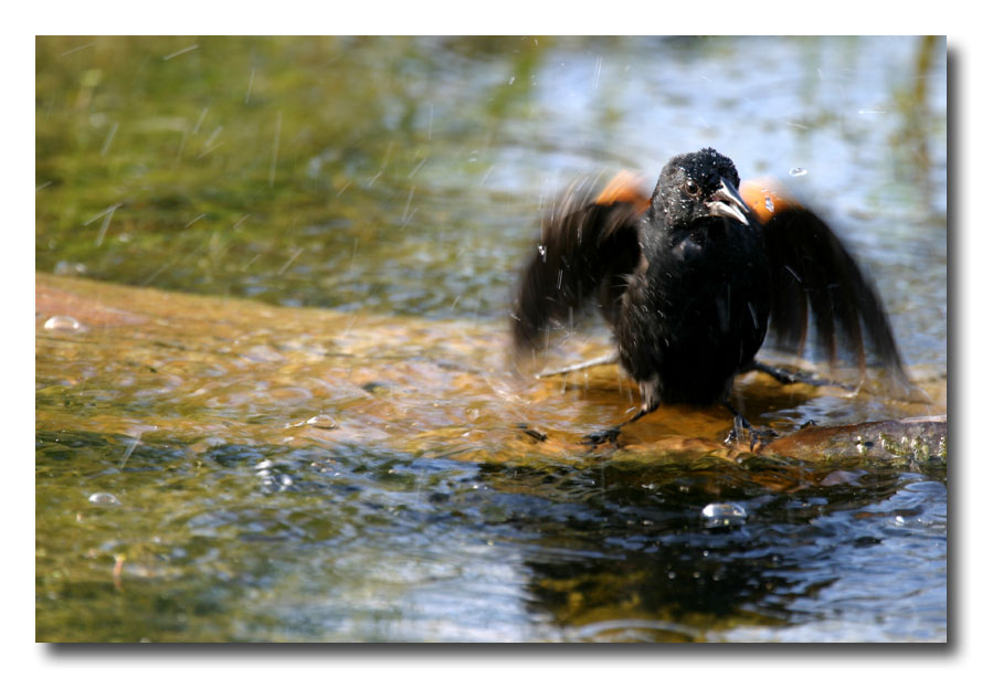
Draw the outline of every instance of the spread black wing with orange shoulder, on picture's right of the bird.
M883 303L828 224L773 182L745 181L740 195L764 226L773 285L769 335L778 346L800 353L811 319L831 362L846 357L865 373L872 352L890 386L910 393Z

